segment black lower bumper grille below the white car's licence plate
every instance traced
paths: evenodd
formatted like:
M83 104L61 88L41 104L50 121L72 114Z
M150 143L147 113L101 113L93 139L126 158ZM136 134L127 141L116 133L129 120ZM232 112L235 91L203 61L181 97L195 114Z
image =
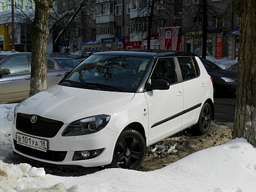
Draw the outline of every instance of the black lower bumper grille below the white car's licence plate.
M34 148L25 147L23 145L17 144L15 140L13 140L14 147L19 152L26 154L28 156L45 159L49 161L63 161L67 155L67 151L54 151L47 150L47 152L43 152L40 150L36 150Z

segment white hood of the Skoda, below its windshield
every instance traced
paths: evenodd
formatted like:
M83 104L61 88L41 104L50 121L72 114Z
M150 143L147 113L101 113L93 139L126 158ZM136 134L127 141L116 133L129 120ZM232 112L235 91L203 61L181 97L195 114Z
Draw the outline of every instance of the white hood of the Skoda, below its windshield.
M106 92L55 85L20 103L18 113L34 114L69 124L87 116L109 114L134 93Z

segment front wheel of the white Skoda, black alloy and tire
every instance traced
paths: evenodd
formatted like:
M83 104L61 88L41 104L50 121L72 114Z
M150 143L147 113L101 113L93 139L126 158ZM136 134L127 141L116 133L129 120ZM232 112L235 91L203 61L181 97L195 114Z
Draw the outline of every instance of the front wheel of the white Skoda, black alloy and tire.
M125 129L116 141L111 167L137 170L146 154L146 144L140 132Z

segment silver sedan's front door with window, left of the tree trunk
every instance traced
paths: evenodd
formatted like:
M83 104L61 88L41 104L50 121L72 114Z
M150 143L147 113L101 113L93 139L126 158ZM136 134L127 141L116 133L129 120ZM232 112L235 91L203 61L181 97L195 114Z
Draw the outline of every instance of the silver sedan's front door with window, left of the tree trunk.
M29 97L30 71L27 55L13 56L4 61L1 68L8 68L9 75L0 77L0 102L12 102Z

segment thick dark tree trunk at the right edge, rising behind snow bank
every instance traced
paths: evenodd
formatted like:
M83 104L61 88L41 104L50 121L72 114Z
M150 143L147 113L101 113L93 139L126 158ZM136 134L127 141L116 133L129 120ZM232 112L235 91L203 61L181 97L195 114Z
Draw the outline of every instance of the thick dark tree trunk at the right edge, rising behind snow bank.
M236 3L241 17L241 42L233 138L246 138L256 147L256 1Z

